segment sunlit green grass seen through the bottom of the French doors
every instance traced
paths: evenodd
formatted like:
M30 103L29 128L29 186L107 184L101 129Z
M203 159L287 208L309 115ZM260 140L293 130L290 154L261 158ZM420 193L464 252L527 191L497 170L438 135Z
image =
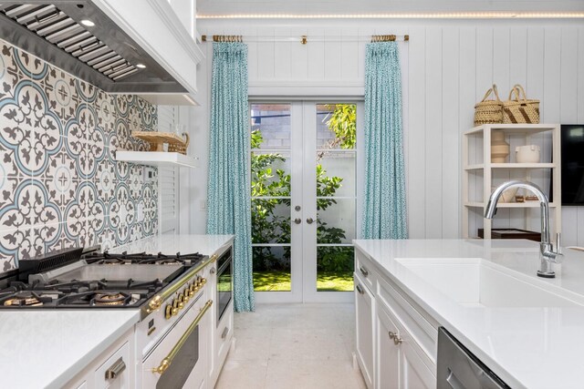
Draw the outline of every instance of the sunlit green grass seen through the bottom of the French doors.
M289 271L254 271L255 292L290 291ZM319 292L350 292L353 290L351 271L327 271L317 275Z

